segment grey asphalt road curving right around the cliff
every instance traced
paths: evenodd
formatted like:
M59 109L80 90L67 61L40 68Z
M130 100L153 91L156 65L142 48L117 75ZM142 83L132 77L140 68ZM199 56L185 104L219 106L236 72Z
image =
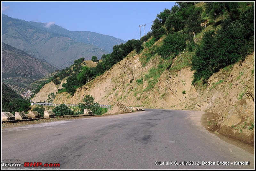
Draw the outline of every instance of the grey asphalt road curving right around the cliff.
M254 154L201 126L203 113L146 109L3 129L2 162L60 163L60 169L254 169ZM2 164L6 168L12 167Z

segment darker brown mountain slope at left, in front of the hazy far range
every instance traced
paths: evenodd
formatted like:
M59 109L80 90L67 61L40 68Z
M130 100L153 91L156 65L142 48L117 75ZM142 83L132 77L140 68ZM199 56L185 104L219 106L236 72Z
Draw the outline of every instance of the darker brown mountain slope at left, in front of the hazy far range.
M2 82L17 93L56 67L2 42Z

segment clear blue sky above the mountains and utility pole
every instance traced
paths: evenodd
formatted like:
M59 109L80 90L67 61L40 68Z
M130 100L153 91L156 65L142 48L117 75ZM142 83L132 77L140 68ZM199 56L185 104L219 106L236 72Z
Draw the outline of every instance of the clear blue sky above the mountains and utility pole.
M91 31L123 40L139 39L139 25L150 31L156 15L171 9L162 2L5 2L2 13L25 21L54 23L70 31ZM141 27L144 35L144 27Z

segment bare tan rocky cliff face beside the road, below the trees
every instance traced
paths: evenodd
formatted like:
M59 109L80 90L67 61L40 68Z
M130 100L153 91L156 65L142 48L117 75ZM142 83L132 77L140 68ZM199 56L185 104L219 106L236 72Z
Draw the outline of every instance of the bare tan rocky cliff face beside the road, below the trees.
M54 103L78 104L90 94L100 104L121 102L144 108L209 111L218 115L220 133L254 143L254 53L213 74L205 86L191 85L193 72L182 68L175 72L164 70L149 90L148 81L138 80L159 60L153 58L143 67L139 58L132 52L109 71L78 88L74 96L57 94Z

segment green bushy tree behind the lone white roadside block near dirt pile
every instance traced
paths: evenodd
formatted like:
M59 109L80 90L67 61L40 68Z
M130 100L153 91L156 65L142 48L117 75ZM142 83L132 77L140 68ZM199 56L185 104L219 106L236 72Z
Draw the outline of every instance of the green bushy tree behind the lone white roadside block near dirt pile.
M83 112L84 109L91 109L93 114L102 115L99 103L95 102L94 97L92 97L91 95L85 95L82 102L83 103L79 103L79 108L81 109L81 112Z

